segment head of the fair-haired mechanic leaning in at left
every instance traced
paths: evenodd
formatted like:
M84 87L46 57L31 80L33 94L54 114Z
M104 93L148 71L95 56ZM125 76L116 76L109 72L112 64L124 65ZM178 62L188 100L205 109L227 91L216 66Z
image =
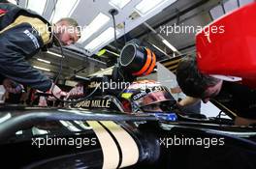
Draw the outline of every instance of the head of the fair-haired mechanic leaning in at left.
M54 25L54 34L62 45L70 45L79 41L80 27L75 19L65 17Z

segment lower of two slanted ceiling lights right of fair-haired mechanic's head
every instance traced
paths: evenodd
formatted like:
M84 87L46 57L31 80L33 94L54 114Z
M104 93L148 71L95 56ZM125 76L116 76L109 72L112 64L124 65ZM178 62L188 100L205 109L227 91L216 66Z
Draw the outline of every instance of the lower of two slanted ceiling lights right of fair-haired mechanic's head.
M110 27L106 31L104 31L101 35L99 35L96 39L94 39L92 42L89 42L84 48L89 51L94 51L101 45L112 41L114 35L113 35L113 28ZM119 31L116 31L116 36L119 35Z

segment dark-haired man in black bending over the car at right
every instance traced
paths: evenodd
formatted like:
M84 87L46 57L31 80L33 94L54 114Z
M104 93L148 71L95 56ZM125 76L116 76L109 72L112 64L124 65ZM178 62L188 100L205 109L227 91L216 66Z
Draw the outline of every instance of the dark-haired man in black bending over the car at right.
M182 102L183 105L198 99L205 103L209 99L223 100L237 114L235 125L256 123L256 90L238 82L223 81L201 73L197 68L196 59L190 56L179 62L176 80L184 94L192 97Z

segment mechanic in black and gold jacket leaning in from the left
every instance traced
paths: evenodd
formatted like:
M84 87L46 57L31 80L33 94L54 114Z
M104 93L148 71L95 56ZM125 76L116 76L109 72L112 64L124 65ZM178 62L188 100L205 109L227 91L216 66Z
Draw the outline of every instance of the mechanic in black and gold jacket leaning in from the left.
M26 61L40 50L47 50L53 42L57 45L56 38L62 45L78 42L78 22L66 17L51 25L39 14L0 3L0 83L8 92L20 92L20 83L42 92L52 91L55 97L61 97L59 87ZM17 86L21 88L19 91Z

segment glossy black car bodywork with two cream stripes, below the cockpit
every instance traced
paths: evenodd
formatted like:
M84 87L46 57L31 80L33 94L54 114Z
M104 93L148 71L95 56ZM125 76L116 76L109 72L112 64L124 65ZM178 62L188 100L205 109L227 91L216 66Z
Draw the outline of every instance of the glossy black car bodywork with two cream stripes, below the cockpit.
M1 162L8 168L255 168L255 127L171 115L176 118L5 106Z

